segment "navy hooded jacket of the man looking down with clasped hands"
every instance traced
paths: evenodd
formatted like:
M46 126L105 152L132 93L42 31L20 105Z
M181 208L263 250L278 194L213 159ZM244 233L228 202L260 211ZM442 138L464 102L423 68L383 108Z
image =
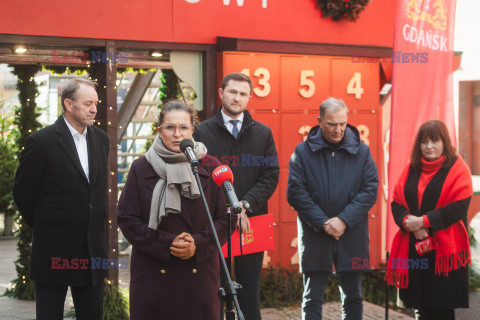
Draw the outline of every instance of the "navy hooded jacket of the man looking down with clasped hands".
M298 213L301 272L331 271L334 259L336 271L369 269L363 268L365 261L370 265L368 210L377 190L377 167L355 127L347 126L338 148L325 142L319 126L310 130L290 159L287 186ZM339 240L322 228L332 217L347 225Z

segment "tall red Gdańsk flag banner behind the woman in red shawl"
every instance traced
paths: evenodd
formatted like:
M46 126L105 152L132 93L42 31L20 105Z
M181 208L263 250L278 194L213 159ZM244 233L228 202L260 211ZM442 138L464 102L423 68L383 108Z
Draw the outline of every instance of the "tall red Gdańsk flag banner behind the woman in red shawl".
M388 176L387 250L397 227L390 212L393 188L409 162L415 135L439 119L455 143L452 98L455 0L397 0L392 53L392 118Z

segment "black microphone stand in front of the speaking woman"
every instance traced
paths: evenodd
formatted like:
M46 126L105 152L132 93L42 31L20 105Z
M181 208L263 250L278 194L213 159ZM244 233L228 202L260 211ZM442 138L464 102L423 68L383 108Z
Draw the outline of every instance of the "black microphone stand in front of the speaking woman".
M229 267L227 267L227 264L225 262L225 257L222 252L222 246L220 245L220 241L218 240L218 235L215 230L215 225L213 224L213 219L212 219L212 214L210 213L210 209L208 208L208 203L207 199L205 198L205 193L203 192L202 189L202 184L200 182L200 177L198 176L198 168L197 164L191 162L192 165L192 172L193 175L195 176L195 180L197 181L198 189L200 190L200 194L202 196L203 200L203 205L205 206L205 210L207 211L207 216L208 216L208 221L210 223L210 228L212 229L213 236L215 237L215 243L217 245L217 250L218 254L220 256L220 261L221 261L221 268L222 271L224 272L226 278L227 278L227 289L228 291L226 292L223 287L219 289L219 295L221 296L222 300L226 300L227 304L227 320L235 320L235 311L233 309L233 305L235 305L235 309L237 309L237 316L239 320L245 320L243 317L242 310L240 310L240 305L238 304L238 299L237 299L237 291L236 289L239 287L237 284L234 284L232 281L232 278L230 277L230 270L231 270L231 261L232 261L232 252L231 252L231 244L230 244L230 237L231 237L231 226L232 226L232 215L230 213L230 210L228 211L228 259L229 259ZM233 301L233 303L232 303Z

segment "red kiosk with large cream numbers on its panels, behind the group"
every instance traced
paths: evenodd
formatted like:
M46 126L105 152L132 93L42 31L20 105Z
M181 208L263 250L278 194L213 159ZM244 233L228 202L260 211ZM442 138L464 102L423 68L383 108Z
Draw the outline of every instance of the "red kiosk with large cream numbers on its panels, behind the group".
M203 89L197 94L203 97L202 118L216 113L223 75L234 71L250 75L254 90L249 110L272 129L281 169L269 202L275 250L266 253L264 264L295 267L297 214L285 196L288 160L316 125L321 101L334 96L346 102L349 122L370 146L381 185L385 184L389 105L382 107L380 91L391 73L384 59L391 57L394 11L395 1L371 1L356 22L349 22L322 17L314 0L3 1L0 63L41 64L53 51L93 48L113 55L152 49L200 52ZM18 44L27 46L33 56L11 53ZM104 68L102 104L114 107L116 65L111 65L98 68ZM99 117L112 124L107 128L112 141L115 108L99 112ZM112 188L116 190L113 184ZM110 217L115 214L115 197L113 192ZM385 262L385 208L385 193L379 187L377 204L369 213L373 268Z

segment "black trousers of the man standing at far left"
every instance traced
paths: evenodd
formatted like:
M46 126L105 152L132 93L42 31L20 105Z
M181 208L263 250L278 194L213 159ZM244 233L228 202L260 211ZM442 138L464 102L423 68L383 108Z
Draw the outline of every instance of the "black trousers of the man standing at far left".
M70 287L77 320L101 320L103 281L95 286ZM62 320L68 286L36 283L37 320Z

